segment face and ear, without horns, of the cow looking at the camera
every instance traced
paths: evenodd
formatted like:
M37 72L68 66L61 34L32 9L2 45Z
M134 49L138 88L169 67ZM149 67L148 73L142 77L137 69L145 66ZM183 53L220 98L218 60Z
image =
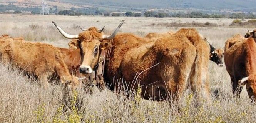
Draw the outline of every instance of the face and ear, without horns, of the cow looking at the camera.
M81 58L80 73L90 74L98 64L99 53L102 50L109 48L107 41L100 42L99 40L88 40L81 42Z

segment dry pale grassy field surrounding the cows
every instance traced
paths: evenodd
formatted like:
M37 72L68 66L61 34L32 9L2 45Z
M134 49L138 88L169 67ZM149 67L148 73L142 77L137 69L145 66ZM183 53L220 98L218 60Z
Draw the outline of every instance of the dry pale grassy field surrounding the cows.
M126 22L121 32L144 36L149 32L177 31L179 26L165 26L158 23L210 22L214 26L196 28L216 48L224 48L224 42L234 34L244 35L247 28L229 27L230 19L191 19L191 18L139 18L139 17L71 17L71 16L41 16L41 15L0 15L0 35L12 37L23 36L26 40L49 43L57 47L68 48L69 40L60 35L51 21L55 21L66 32L77 34L81 32L78 25L84 28L104 25L105 33L114 30L120 21ZM155 23L155 24L153 24ZM193 25L187 24L187 27ZM184 27L182 27L184 28ZM253 29L255 27L251 27ZM224 60L223 60L224 62ZM218 67L210 62L211 105L194 106L193 94L187 90L182 98L180 110L177 105L168 102L148 100L133 100L132 96L117 95L107 89L93 94L77 89L79 100L72 100L66 107L62 103L62 90L59 84L47 90L38 86L37 81L23 76L18 70L0 65L0 122L1 123L45 123L82 121L85 123L255 123L256 107L249 103L246 90L241 98L233 98L231 80L225 66ZM219 96L213 96L214 90L219 90ZM74 104L80 105L80 110ZM63 112L62 107L67 111Z

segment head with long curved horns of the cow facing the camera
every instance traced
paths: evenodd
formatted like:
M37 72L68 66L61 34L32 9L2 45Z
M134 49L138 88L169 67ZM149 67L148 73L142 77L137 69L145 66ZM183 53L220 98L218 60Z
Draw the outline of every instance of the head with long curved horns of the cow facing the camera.
M84 30L84 32L76 34L76 35L70 35L64 30L62 30L55 22L55 27L59 30L59 32L68 39L76 39L78 42L80 42L80 52L81 52L81 59L82 64L80 66L80 73L92 73L94 67L98 63L99 58L99 51L107 48L109 45L108 43L100 42L102 40L112 40L115 35L117 35L120 27L124 24L125 21L121 22L118 27L115 29L115 31L111 35L105 35L102 30L98 30L95 27L91 27L87 30ZM99 39L99 40L96 40ZM70 45L74 45L75 43Z

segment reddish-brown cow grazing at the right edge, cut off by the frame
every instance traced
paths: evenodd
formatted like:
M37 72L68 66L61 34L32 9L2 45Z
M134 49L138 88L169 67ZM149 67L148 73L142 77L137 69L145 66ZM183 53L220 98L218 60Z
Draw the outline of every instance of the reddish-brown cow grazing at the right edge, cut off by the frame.
M256 43L253 38L244 39L225 50L224 60L231 78L234 95L240 97L242 86L239 86L239 80L242 79L241 84L246 84L251 101L256 97L255 58Z

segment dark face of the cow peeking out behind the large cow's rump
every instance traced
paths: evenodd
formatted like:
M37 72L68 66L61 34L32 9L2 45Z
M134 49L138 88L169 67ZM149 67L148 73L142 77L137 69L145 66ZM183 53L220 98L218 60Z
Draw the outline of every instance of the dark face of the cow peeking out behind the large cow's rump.
M222 57L224 55L224 51L222 49L215 49L210 53L210 60L215 62L219 67L223 66Z

